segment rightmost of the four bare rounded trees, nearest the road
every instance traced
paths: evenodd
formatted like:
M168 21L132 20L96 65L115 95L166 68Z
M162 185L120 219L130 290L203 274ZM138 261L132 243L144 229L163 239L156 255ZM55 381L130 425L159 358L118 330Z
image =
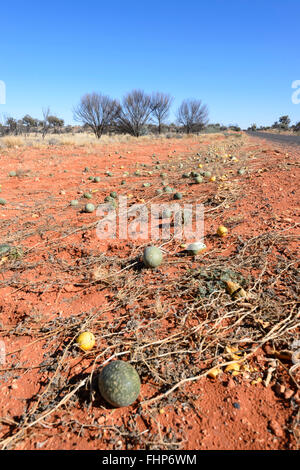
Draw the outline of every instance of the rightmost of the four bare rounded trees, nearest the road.
M208 123L208 109L200 100L184 100L177 111L177 121L187 134L197 132Z

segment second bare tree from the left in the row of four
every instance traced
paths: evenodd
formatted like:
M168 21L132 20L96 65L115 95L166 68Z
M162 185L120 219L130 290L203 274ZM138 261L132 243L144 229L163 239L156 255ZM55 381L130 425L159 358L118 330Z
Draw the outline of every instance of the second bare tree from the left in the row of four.
M152 99L142 90L133 90L123 98L117 125L121 132L139 137L150 121Z

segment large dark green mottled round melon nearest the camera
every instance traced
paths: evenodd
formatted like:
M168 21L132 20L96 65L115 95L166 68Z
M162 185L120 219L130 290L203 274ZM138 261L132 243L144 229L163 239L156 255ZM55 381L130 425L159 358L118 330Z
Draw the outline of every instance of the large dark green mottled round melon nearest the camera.
M140 393L141 381L131 364L112 361L102 369L98 387L104 400L120 408L135 402Z

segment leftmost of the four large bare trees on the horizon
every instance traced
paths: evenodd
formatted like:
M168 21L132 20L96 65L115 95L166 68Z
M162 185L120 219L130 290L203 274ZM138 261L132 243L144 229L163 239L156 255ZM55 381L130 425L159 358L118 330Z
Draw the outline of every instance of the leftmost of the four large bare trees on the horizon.
M74 110L74 119L90 127L100 139L120 113L118 101L98 93L86 94Z

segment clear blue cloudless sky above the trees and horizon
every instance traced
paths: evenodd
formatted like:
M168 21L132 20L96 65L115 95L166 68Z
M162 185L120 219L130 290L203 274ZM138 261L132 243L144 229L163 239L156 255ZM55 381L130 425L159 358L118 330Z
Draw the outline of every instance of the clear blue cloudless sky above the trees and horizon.
M211 122L300 120L299 0L15 0L0 5L0 115L73 123L80 97L133 88L208 105ZM173 113L171 114L171 118Z

